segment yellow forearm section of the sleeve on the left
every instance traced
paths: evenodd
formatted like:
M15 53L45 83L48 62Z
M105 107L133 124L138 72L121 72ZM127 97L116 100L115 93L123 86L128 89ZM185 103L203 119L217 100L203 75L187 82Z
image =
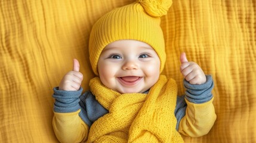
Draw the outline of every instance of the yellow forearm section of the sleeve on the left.
M72 113L56 113L53 128L60 142L82 142L87 139L89 127L79 117L80 109Z

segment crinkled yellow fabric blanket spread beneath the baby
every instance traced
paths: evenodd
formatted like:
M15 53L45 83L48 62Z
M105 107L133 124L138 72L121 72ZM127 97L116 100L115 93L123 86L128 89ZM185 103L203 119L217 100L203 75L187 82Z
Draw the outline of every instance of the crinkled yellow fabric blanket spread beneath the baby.
M51 125L52 88L78 58L82 86L92 24L132 0L0 1L0 142L58 142ZM185 142L256 142L256 2L172 1L162 17L164 74L184 93L179 56L186 52L214 79L215 125Z

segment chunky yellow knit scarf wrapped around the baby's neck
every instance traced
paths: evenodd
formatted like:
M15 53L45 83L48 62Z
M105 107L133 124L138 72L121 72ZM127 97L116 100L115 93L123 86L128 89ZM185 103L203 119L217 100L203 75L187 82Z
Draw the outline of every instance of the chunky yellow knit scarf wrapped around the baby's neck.
M161 75L149 94L119 94L98 77L90 81L96 100L109 110L95 121L88 142L183 142L175 130L177 85Z

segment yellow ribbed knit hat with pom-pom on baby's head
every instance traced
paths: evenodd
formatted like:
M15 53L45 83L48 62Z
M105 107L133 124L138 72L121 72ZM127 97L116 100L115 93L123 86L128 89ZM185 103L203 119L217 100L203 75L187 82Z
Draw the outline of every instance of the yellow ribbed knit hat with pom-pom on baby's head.
M162 72L166 54L160 17L167 14L171 4L171 0L137 0L103 15L92 27L89 41L90 62L94 73L98 75L98 58L104 47L125 39L152 46L160 58Z

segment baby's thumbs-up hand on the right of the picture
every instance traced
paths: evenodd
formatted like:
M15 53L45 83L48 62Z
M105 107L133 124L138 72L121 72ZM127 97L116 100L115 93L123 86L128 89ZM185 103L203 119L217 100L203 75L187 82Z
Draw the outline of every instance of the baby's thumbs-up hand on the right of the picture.
M192 85L201 85L206 82L206 76L201 67L193 61L188 61L184 52L180 55L180 62L180 71L187 82Z

